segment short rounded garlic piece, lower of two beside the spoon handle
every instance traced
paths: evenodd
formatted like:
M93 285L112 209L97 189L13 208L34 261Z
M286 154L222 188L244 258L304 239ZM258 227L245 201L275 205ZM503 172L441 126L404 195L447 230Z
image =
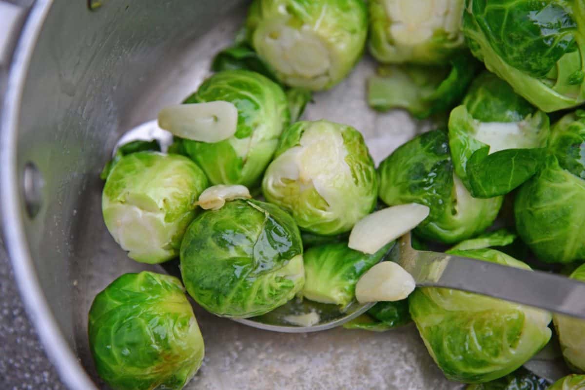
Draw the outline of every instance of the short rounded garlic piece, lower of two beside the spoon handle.
M399 264L381 262L371 267L356 284L356 299L366 302L393 302L407 298L416 283Z

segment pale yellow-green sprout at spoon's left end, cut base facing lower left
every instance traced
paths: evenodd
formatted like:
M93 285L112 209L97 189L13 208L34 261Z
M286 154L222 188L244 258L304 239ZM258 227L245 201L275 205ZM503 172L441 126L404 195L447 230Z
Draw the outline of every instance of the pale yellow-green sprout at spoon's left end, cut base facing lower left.
M170 260L178 255L199 194L208 186L205 174L184 156L149 151L123 156L102 193L106 227L132 259Z

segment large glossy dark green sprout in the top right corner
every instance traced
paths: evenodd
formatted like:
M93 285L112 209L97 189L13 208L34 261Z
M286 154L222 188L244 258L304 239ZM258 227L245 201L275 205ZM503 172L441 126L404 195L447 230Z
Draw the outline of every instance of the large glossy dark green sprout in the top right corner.
M544 112L585 102L579 2L466 0L463 34L489 71Z

